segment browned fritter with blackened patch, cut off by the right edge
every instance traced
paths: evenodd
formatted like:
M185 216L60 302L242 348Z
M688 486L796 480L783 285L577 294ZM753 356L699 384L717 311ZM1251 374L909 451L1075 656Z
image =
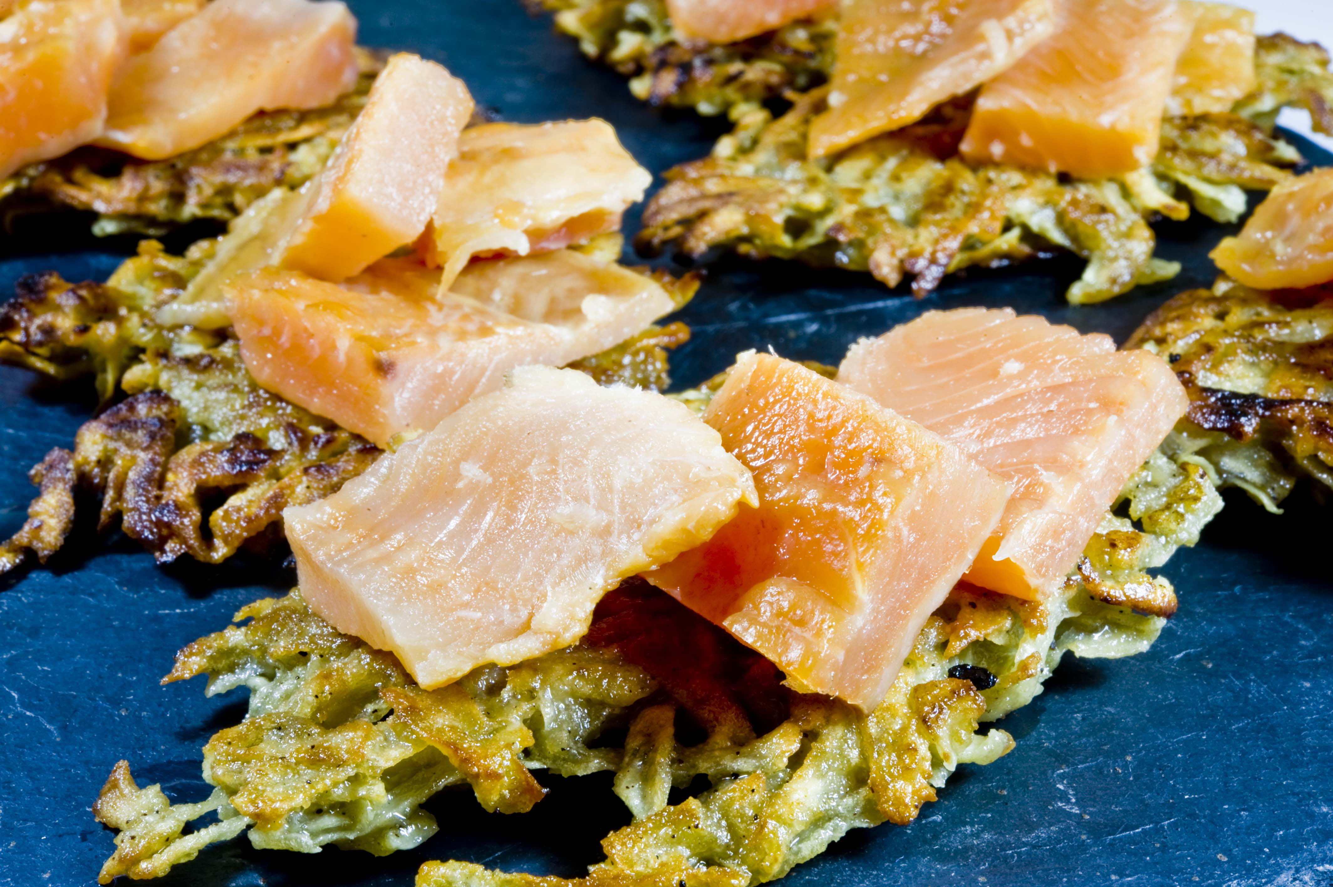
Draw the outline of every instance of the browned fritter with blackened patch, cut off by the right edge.
M1273 511L1302 475L1333 488L1333 291L1222 277L1164 304L1129 345L1169 360L1189 392L1165 450Z

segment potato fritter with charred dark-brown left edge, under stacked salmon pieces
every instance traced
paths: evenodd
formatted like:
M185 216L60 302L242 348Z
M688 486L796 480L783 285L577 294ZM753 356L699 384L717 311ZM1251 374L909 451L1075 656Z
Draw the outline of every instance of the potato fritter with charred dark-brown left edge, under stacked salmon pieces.
M117 389L129 395L79 429L73 452L53 450L32 471L40 492L28 522L0 543L0 574L28 552L45 563L60 548L75 490L101 500L101 528L119 518L160 562L220 563L247 543L268 548L281 538L284 508L337 491L379 456L361 437L260 388L227 331L153 321L216 243L172 256L144 241L105 284L36 275L0 305L0 361L57 379L95 375L104 404ZM601 248L619 255L620 241ZM698 288L697 275L653 277L677 304ZM661 391L670 384L666 351L688 339L681 323L651 327L573 367L601 384Z

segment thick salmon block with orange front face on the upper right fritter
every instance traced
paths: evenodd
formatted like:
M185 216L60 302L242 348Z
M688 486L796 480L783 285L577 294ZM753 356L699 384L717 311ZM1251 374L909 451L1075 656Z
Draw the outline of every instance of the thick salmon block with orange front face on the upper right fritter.
M1190 24L1176 0L1056 0L1054 33L981 89L962 156L1084 179L1148 165Z

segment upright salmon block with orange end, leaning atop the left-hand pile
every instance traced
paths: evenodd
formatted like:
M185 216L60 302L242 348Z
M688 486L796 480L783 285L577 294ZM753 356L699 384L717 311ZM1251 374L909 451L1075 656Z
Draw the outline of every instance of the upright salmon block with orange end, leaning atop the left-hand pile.
M399 53L324 172L280 263L347 280L415 241L435 212L444 173L472 116L472 95L441 65Z

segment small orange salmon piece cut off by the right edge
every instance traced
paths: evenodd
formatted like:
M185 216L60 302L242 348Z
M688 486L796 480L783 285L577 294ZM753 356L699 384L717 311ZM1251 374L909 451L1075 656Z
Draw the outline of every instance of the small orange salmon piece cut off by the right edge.
M1256 289L1304 289L1333 280L1333 168L1273 188L1240 236L1208 253L1217 267Z

